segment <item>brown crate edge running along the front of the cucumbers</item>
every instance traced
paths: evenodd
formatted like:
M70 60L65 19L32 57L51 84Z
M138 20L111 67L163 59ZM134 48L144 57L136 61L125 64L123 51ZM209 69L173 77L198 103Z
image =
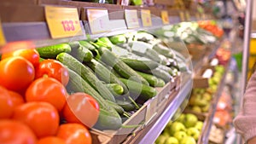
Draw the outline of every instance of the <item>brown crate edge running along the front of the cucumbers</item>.
M121 143L125 141L128 136L132 136L132 133L140 132L147 128L154 120L156 120L160 113L162 113L167 105L170 104L172 98L179 89L179 77L175 78L174 81L167 83L163 88L156 88L159 92L154 98L146 101L139 110L128 118L124 126L131 126L131 128L120 128L119 130L90 130L90 134L94 143Z

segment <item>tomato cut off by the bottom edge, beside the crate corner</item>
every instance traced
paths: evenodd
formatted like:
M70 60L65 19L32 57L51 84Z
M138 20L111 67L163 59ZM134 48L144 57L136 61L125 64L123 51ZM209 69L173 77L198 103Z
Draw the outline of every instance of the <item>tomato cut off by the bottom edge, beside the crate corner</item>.
M67 144L91 144L91 135L82 124L61 124L57 136Z

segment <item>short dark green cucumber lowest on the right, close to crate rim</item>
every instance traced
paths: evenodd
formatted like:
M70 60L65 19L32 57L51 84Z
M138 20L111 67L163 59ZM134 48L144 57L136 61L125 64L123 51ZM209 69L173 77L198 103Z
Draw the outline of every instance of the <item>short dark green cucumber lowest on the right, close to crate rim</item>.
M136 93L140 95L140 98L143 98L143 100L148 100L157 94L156 89L148 85L140 84L133 80L128 80L125 78L119 79L128 87L131 93Z

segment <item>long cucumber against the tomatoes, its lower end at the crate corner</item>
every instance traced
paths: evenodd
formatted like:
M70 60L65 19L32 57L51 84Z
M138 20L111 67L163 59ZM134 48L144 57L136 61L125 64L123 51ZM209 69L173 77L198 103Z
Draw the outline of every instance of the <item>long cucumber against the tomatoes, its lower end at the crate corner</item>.
M83 78L79 76L76 72L68 69L69 82L67 84L67 89L71 89L73 92L84 92L91 95L99 104L100 107L100 117L96 122L96 126L100 125L101 129L106 130L117 130L122 125L122 120L119 117L118 112L115 111L113 107L110 107L108 103L102 98L95 89L93 89L90 84L88 84Z

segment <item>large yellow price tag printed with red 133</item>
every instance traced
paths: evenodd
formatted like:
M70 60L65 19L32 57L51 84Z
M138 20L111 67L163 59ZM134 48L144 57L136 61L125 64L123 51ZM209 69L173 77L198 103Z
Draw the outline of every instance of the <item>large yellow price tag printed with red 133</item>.
M52 38L82 35L78 9L45 6L45 16Z

